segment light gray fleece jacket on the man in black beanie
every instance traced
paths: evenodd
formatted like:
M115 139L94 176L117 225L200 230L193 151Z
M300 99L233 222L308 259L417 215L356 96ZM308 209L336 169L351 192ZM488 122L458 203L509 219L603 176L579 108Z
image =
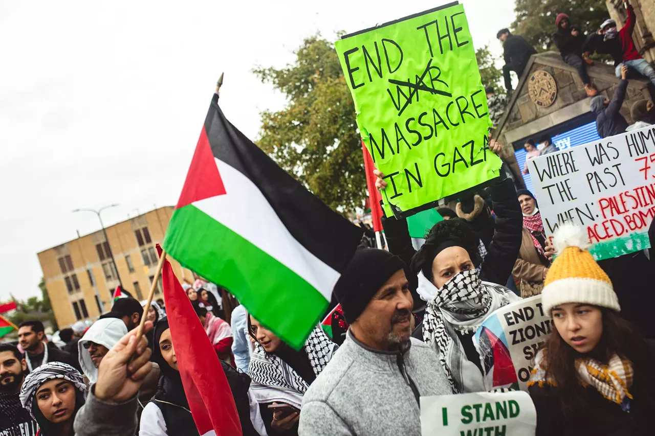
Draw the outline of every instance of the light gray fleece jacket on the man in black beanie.
M380 352L348 331L303 397L298 434L421 436L419 396L449 393L437 355L420 340Z

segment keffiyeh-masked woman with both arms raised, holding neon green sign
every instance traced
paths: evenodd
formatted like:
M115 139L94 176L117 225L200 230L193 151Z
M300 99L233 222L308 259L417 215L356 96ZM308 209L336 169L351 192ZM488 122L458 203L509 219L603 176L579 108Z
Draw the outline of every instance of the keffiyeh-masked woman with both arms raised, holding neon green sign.
M490 141L493 153L500 148ZM376 175L381 177L377 170ZM379 178L376 185L384 188L383 182ZM507 283L521 246L521 209L511 179L489 185L496 218L484 261L478 239L462 219L434 225L419 251L411 245L406 219L384 221L389 250L417 274L408 280L417 280L417 293L427 302L424 321L413 336L438 352L454 393L491 388L490 368L483 366L473 336L491 312L519 300L499 283Z

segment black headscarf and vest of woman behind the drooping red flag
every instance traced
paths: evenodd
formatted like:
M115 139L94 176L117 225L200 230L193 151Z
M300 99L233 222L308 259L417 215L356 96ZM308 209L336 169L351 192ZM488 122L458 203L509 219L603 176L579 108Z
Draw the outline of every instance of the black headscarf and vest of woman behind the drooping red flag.
M198 429L196 429L196 424L191 415L191 409L189 409L187 395L184 391L179 371L168 365L159 350L159 339L162 333L168 328L168 319L163 318L157 322L154 329L153 339L155 346L153 347L153 361L159 364L162 375L159 379L159 390L153 398L153 403L159 407L159 410L161 410L164 416L166 432L169 436L198 435ZM221 365L232 390L243 435L259 435L250 420L250 401L248 399L250 377L242 372L237 372L233 367L223 361L221 361Z

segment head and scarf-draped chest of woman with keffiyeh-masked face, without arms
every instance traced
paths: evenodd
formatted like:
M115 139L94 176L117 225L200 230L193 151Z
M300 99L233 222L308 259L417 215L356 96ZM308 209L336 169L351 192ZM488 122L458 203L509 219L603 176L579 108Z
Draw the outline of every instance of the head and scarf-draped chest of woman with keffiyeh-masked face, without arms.
M477 238L465 223L452 219L432 227L411 262L419 272L419 294L435 295L425 310L422 339L438 352L455 393L487 390L488 369L473 335L487 315L519 299L506 287L482 282L484 264L478 274L479 262Z

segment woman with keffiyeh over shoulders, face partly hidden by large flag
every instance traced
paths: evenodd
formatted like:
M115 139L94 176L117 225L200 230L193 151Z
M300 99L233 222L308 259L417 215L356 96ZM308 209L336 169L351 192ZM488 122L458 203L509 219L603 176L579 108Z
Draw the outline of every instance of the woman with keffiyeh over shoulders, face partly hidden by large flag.
M248 316L248 333L255 340L248 374L250 392L259 403L269 435L296 436L303 395L339 348L316 327L300 351Z

